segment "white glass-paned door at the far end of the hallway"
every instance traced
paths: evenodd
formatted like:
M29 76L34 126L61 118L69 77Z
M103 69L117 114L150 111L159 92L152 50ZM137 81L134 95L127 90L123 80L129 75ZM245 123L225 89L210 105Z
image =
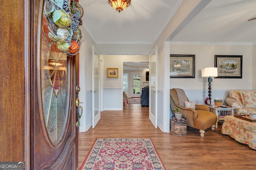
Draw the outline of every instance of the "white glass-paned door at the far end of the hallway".
M132 98L140 97L141 78L141 73L132 73Z

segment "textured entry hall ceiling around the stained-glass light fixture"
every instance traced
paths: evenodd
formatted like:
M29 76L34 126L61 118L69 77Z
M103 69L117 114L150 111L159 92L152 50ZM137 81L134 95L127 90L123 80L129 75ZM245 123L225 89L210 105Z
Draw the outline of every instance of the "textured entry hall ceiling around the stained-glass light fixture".
M118 13L108 0L79 0L83 25L97 44L154 43L181 0L131 0Z

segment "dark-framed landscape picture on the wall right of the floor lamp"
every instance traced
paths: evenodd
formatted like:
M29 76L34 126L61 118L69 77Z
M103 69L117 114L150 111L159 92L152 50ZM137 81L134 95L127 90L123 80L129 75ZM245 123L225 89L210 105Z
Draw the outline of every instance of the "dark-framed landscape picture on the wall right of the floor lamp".
M215 55L215 67L218 68L218 77L215 78L242 78L242 55Z

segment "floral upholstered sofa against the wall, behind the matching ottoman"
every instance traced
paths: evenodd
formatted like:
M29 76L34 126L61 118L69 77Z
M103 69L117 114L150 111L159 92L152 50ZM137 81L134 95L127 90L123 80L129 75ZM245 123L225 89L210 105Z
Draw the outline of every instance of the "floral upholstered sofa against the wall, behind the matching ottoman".
M236 108L236 114L256 114L256 90L230 90L225 101Z

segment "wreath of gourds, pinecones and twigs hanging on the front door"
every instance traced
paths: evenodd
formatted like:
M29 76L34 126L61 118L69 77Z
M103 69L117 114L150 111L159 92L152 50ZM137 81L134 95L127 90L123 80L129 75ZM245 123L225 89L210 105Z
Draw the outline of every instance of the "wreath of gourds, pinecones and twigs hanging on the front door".
M83 9L78 0L45 0L44 14L48 21L48 37L68 56L76 55L82 45Z

